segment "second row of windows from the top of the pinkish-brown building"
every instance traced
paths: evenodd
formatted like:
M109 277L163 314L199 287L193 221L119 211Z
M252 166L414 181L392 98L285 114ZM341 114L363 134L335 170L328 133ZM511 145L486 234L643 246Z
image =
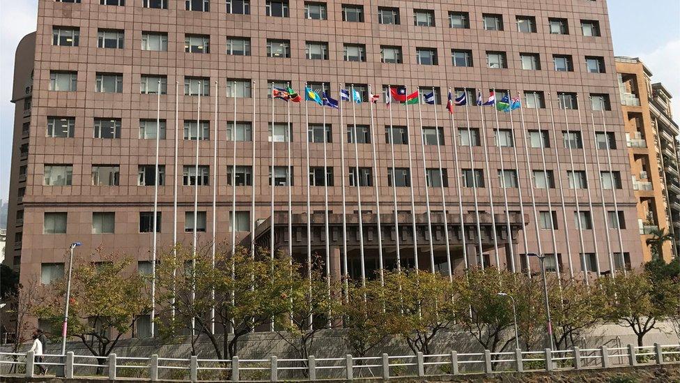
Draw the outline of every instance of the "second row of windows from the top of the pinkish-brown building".
M52 30L53 45L78 46L79 29L54 27ZM291 40L267 39L267 57L290 58ZM125 47L125 31L121 29L100 29L98 31L98 47L123 49ZM185 52L210 53L210 35L185 34ZM167 33L142 32L141 50L165 52L168 50ZM325 41L306 41L304 56L310 60L329 59L329 45ZM226 54L250 56L252 43L249 37L229 36L226 41ZM431 47L416 47L415 59L420 65L438 65L438 50ZM343 61L366 61L366 45L343 43ZM380 62L403 63L403 50L399 45L380 45ZM472 67L472 50L451 49L451 62L454 66ZM538 53L520 53L520 64L523 70L541 70L541 59ZM589 73L604 73L603 57L585 57L586 69ZM507 68L506 52L486 51L488 68ZM573 71L573 57L569 54L554 54L553 66L558 72Z

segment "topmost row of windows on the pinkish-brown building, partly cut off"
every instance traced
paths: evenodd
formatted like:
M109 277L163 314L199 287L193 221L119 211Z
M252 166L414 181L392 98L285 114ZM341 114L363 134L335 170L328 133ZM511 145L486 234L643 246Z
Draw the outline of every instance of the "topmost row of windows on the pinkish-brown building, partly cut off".
M56 0L62 3L79 3L80 0ZM215 2L215 0L213 0ZM100 0L102 5L125 6L125 0ZM168 9L169 0L144 0L144 8ZM210 0L185 0L185 10L209 12ZM379 6L378 23L385 25L401 24L401 10L396 7ZM226 13L249 15L250 0L226 0ZM272 17L290 17L291 9L288 0L265 0L265 15ZM323 1L305 1L303 17L309 20L327 20L328 7ZM341 20L343 22L364 22L366 19L364 6L361 4L342 4ZM435 27L435 11L431 9L414 9L413 25L417 27ZM449 28L470 29L470 13L449 11ZM504 31L503 15L482 13L481 25L486 31ZM515 16L516 30L520 33L537 33L536 17L531 15ZM548 17L548 32L568 35L569 21L562 17ZM600 22L597 20L580 20L583 36L601 36Z

